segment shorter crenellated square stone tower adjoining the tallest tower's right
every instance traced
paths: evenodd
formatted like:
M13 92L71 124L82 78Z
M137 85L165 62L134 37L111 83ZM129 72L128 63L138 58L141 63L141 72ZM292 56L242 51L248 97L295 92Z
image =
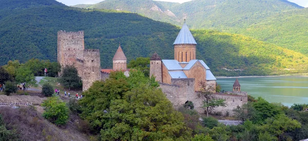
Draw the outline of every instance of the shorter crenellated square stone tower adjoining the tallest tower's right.
M83 82L82 90L86 91L92 86L93 82L101 79L101 59L100 50L88 49L83 52Z

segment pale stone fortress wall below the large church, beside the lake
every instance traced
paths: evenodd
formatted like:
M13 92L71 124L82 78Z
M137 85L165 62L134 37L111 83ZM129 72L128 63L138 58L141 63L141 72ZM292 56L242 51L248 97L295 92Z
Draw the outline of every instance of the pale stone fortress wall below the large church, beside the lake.
M205 109L202 107L204 98L199 97L200 92L195 91L194 78L174 78L171 79L172 84L160 83L160 88L166 97L170 100L172 105L177 109L185 104L187 101L194 103L195 109L199 113L204 113ZM247 103L246 92L225 92L214 93L215 98L225 99L226 107L216 107L215 112L221 112L222 115L233 115L233 109L237 106L242 106ZM210 111L213 113L214 111Z

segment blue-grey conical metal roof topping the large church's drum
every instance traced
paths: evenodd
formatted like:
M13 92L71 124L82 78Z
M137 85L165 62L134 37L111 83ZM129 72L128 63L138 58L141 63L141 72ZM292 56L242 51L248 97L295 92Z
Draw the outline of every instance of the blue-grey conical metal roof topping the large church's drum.
M190 33L186 23L184 23L180 33L178 34L178 37L174 43L176 44L195 44L197 45L194 36Z

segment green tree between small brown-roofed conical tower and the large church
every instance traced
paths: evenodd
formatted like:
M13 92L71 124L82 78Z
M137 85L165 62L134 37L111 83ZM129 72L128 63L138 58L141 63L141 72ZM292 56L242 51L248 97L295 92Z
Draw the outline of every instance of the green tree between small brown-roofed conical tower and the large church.
M127 67L140 70L146 77L150 76L150 58L138 57L136 60L131 60Z

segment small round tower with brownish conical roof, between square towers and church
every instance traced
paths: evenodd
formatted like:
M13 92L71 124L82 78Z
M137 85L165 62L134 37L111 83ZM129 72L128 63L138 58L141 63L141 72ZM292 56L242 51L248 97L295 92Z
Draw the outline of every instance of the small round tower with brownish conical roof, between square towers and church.
M112 62L113 70L115 71L127 69L127 59L121 48L121 45L119 45L117 52L115 52Z

